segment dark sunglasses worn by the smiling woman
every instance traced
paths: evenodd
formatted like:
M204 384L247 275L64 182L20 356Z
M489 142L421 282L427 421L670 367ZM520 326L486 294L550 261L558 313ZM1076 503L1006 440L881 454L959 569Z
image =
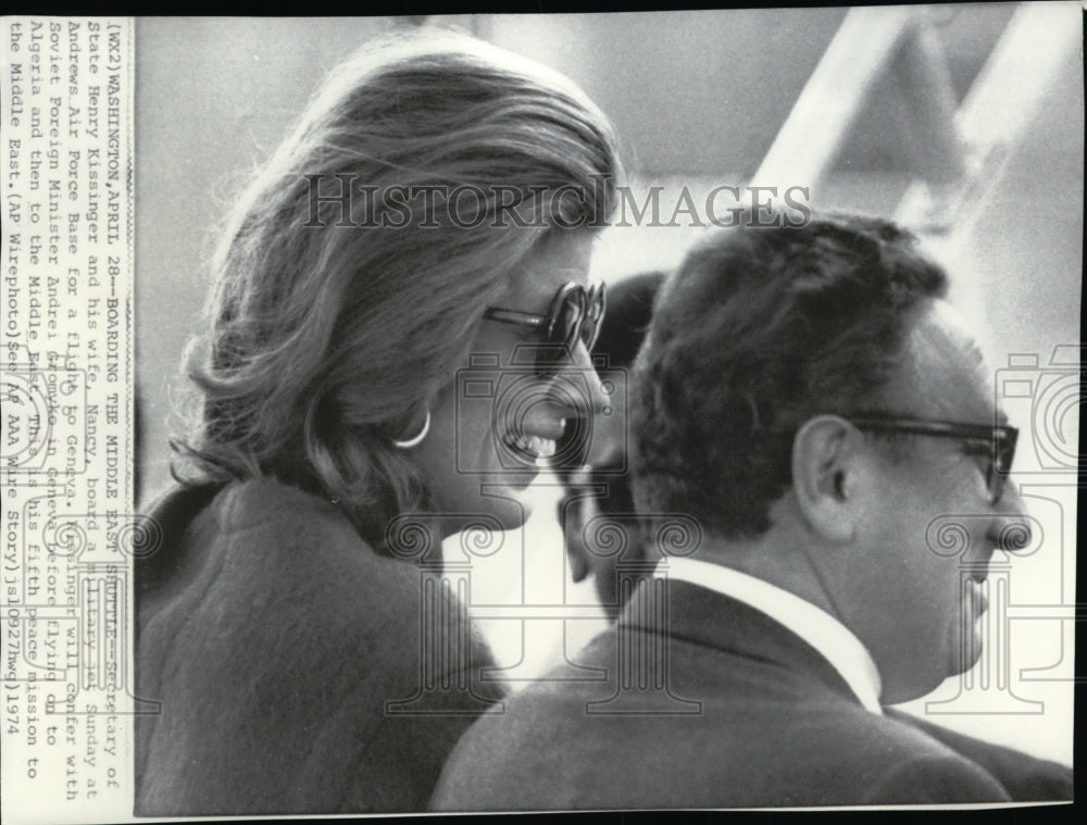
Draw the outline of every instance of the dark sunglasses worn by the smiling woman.
M604 285L586 289L580 284L564 284L551 301L546 315L488 307L484 317L503 324L530 326L544 333L536 348L536 372L554 375L567 363L578 341L591 349L604 316Z

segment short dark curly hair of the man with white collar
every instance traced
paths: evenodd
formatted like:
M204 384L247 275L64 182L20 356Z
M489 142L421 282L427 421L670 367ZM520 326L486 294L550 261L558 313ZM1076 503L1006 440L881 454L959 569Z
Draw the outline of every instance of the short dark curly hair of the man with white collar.
M740 227L697 246L658 296L635 365L638 512L764 533L792 483L797 428L878 409L915 310L946 293L916 238L877 218Z

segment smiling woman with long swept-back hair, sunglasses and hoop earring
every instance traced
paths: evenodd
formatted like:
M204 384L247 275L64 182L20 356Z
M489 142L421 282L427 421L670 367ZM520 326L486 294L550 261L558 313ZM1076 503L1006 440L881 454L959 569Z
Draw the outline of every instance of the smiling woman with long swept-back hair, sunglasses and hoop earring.
M499 698L440 541L520 526L602 404L617 173L570 80L466 37L328 78L217 255L201 415L137 565L137 813L425 809Z

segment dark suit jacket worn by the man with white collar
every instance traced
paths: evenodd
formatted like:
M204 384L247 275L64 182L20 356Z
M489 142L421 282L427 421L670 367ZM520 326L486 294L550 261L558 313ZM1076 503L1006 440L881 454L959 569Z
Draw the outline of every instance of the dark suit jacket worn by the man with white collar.
M440 810L732 808L1071 799L1072 773L865 710L765 614L644 582L619 624L468 730ZM666 666L664 663L666 662ZM934 729L935 728L935 729Z

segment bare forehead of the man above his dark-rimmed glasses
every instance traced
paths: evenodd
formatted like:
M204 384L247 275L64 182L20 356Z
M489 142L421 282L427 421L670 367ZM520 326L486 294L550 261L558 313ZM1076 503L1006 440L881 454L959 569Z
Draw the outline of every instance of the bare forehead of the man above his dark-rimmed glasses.
M912 414L974 423L994 420L992 371L970 326L947 301L933 301L911 325L901 380L892 393ZM998 415L1004 417L1002 411Z

